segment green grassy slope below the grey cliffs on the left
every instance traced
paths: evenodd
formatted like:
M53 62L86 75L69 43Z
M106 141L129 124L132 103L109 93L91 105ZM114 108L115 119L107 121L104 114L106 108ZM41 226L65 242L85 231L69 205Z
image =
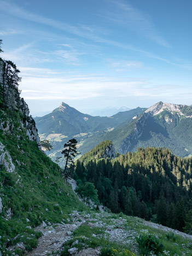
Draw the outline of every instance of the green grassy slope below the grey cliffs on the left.
M12 134L0 131L0 141L15 165L13 173L6 172L0 166L3 203L0 245L10 246L21 241L30 250L36 246L39 234L26 226L34 227L43 220L51 223L65 221L74 208L81 211L85 210L85 206L63 181L60 167L39 150L36 142L30 141L25 135L20 124L21 113L7 111L0 114L2 120L14 124ZM8 219L7 211L11 212L11 219ZM21 251L17 253L21 254Z

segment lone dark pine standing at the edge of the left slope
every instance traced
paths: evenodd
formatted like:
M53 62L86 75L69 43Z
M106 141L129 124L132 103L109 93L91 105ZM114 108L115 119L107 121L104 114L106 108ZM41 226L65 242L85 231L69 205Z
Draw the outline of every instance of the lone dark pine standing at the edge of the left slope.
M66 159L65 168L63 171L64 177L67 177L67 168L73 164L73 159L75 155L78 154L76 146L77 140L74 138L69 139L69 141L63 146L61 154L63 154L64 158Z

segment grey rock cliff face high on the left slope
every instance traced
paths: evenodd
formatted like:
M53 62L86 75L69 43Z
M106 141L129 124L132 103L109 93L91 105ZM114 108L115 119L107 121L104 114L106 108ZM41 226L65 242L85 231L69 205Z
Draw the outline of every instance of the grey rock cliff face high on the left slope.
M3 61L0 60L0 83L3 84ZM30 115L30 110L28 109L27 103L24 98L20 98L20 91L16 86L11 86L5 80L3 86L3 106L10 110L15 110L16 112L21 112L23 118L20 120L21 128L26 130L26 135L31 139L31 141L36 141L39 144L39 136L36 128L36 124ZM2 120L0 117L0 130L11 132L13 130L13 125L9 120Z

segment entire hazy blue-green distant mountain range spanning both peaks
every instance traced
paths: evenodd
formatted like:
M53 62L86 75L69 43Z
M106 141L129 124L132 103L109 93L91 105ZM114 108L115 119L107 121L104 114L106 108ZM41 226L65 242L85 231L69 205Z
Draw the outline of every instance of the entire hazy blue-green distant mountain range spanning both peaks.
M60 156L63 144L74 137L84 154L104 140L116 152L134 152L138 147L166 147L178 156L192 154L192 107L158 102L150 108L119 112L112 117L92 117L62 102L53 112L34 118L40 139L53 145L49 156Z

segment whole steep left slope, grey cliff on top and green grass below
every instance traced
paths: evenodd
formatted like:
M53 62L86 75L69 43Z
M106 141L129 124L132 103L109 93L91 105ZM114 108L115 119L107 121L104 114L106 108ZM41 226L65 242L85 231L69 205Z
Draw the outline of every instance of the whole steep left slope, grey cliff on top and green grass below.
M85 206L39 149L35 122L9 63L0 63L0 255L24 255L41 236L34 226L67 222L74 207Z

